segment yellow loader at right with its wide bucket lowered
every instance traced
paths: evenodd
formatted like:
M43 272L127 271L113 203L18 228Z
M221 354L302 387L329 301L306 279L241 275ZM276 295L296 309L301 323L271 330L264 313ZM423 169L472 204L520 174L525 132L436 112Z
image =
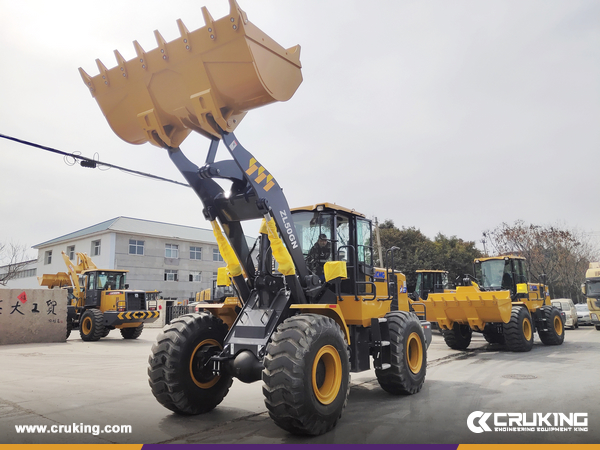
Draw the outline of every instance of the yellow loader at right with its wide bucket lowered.
M530 351L536 331L546 345L563 343L560 311L551 305L547 286L528 282L525 258L479 258L474 272L459 277L456 290L422 299L427 319L438 323L450 348L466 349L473 332L514 352Z

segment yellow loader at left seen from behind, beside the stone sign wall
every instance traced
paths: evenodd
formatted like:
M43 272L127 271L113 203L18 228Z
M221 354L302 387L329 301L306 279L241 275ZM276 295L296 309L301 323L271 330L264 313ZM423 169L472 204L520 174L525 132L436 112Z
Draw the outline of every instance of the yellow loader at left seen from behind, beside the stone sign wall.
M97 341L118 328L124 339L137 339L144 323L154 322L160 311L154 292L130 290L127 270L99 269L85 253L74 264L65 252L68 272L38 277L41 286L68 290L67 338L79 329L84 341Z

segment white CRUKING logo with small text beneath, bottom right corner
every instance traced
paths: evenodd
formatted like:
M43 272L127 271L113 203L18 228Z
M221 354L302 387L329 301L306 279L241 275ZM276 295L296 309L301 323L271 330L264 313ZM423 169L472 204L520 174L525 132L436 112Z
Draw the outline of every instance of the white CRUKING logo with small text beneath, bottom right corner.
M484 413L474 411L467 418L473 433L486 431L587 431L588 413ZM493 416L493 419L490 418ZM490 425L493 425L493 429Z

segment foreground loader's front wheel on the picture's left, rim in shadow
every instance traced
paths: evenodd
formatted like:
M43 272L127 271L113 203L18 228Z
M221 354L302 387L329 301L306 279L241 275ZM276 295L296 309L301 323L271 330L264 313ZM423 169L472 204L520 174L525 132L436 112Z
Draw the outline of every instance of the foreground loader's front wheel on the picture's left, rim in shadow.
M227 326L210 313L174 319L157 337L148 358L148 383L156 400L177 414L213 410L233 382L231 375L215 376L204 363L219 354Z

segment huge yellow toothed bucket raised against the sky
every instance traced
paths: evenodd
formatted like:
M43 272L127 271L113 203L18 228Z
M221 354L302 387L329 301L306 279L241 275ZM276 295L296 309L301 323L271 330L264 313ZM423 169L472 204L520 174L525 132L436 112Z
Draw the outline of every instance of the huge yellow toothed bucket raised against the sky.
M300 46L285 49L248 21L235 0L229 15L146 52L134 41L129 61L115 50L118 65L83 81L113 131L131 144L178 147L193 130L207 137L232 132L246 112L289 100L302 82Z

